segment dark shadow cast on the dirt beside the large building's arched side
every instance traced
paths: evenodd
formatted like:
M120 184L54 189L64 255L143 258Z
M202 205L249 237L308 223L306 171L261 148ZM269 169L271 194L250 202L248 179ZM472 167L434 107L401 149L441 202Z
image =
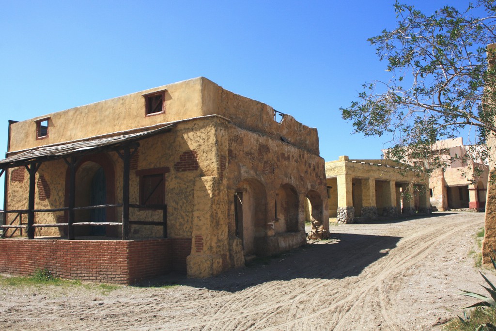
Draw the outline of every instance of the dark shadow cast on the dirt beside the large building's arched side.
M401 237L333 234L331 240L307 245L271 258L256 258L245 268L228 270L216 277L186 279L182 274L141 282L135 286L168 284L237 292L273 280L295 278L341 279L359 275L365 267L387 255Z

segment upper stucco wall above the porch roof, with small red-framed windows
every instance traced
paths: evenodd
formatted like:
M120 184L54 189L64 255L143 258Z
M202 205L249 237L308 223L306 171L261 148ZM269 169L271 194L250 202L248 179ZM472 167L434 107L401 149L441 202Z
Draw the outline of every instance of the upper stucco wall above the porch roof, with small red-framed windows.
M146 116L143 95L161 90L167 90L165 112ZM316 129L301 124L290 115L285 115L278 123L273 120L272 107L225 90L204 77L14 123L9 152L214 114L250 131L276 139L283 136L292 144L318 154ZM48 138L36 139L36 121L45 118L50 118Z

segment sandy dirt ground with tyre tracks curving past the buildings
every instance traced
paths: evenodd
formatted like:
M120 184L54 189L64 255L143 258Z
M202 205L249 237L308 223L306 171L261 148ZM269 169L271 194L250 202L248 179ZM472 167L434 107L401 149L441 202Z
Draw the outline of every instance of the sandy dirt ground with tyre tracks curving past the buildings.
M169 288L0 287L0 329L441 330L474 303L457 289L484 291L469 255L483 224L458 212L331 225L334 240Z

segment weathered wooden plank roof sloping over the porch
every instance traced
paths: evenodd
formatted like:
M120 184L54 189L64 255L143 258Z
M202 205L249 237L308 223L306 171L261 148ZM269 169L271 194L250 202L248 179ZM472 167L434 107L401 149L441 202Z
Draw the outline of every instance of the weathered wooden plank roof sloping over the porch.
M67 156L94 154L109 150L118 150L129 146L140 139L154 134L170 131L175 125L167 125L158 129L140 132L128 132L101 138L88 138L68 143L40 146L24 150L13 156L0 160L0 169L18 167L31 162L52 161Z

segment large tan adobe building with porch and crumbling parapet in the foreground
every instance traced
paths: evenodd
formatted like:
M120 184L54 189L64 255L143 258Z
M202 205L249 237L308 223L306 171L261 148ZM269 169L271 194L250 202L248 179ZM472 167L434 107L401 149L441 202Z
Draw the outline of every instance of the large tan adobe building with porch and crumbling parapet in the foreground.
M208 277L305 244L309 202L328 231L317 130L204 77L11 121L8 139L0 272Z

